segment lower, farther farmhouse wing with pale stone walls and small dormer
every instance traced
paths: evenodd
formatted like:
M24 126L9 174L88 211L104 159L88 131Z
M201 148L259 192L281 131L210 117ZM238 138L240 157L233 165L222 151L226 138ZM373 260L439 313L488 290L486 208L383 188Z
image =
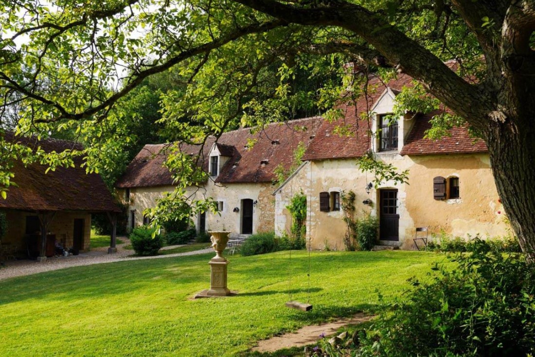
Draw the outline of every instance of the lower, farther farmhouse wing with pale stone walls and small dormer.
M307 147L314 138L320 118L306 118L272 123L252 133L249 128L209 138L203 145L179 145L182 153L200 155L203 170L210 178L203 187L189 187L192 201L212 198L218 212L205 212L194 218L198 232L229 230L231 237L273 231L277 187L274 170L282 165L288 170L294 164L293 153ZM255 141L249 146L250 140ZM172 192L173 178L163 166L169 145L146 145L128 165L116 187L129 205L128 228L146 224L146 208L155 207L166 192Z

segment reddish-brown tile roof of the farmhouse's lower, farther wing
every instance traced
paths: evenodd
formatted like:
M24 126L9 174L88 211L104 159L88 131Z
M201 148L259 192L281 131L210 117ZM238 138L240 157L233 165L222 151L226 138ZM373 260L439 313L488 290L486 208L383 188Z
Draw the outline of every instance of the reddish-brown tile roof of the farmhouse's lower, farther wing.
M273 170L282 164L288 169L293 163L293 152L300 142L308 146L322 118L312 117L291 120L286 123L266 125L258 133L251 134L250 128L242 128L221 134L217 147L222 156L230 159L219 173L219 183L270 182L276 179ZM248 148L248 139L256 140ZM197 155L201 152L200 163L208 171L208 155L215 138L208 138L204 146L180 144L180 150ZM170 186L171 173L163 166L166 148L169 144L146 145L128 165L125 174L116 187ZM262 161L264 163L262 163Z

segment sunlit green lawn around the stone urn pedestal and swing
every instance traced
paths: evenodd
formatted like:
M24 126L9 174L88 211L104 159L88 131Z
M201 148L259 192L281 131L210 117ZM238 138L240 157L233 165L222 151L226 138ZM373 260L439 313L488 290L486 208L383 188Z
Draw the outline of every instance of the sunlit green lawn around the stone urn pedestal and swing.
M377 309L424 277L442 255L314 252L311 312L307 253L230 257L236 297L191 300L210 282L213 253L74 267L0 281L1 356L234 356L303 325Z

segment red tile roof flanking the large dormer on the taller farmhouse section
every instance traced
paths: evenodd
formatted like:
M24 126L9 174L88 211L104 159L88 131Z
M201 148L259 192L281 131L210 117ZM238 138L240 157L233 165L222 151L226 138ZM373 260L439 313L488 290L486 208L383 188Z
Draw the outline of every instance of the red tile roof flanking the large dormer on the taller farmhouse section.
M452 63L447 63L452 65ZM365 118L366 112L373 108L385 89L391 88L397 93L404 86L412 86L412 78L406 74L398 75L398 78L385 84L378 78L372 78L369 82L375 90L369 94L368 98L361 95L356 101L342 102L339 109L343 112L343 118L329 122L324 121L316 132L315 139L310 143L303 159L320 160L331 158L360 157L371 147L370 123ZM450 153L477 153L487 151L486 145L479 140L476 145L472 145L473 139L469 138L467 128L453 128L450 130L452 136L441 140L431 141L424 139L424 132L431 127L429 119L433 114L422 116L417 119L415 126L409 134L408 141L403 147L402 155L423 155L423 154L450 154ZM335 133L336 128L345 127L351 133L340 135Z

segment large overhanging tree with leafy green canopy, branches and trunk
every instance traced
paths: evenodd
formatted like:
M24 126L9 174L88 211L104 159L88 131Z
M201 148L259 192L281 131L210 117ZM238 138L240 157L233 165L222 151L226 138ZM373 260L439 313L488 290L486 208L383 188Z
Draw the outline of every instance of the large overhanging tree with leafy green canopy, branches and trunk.
M238 125L284 120L312 102L334 119L330 109L342 94L362 94L365 77L341 80L342 64L354 62L383 78L409 74L455 112L437 125L465 121L485 140L515 233L525 250L535 250L532 1L18 0L1 6L2 121L16 112L18 133L73 130L88 143L83 153L27 153L27 160L53 167L69 165L77 154L87 157L88 171L108 169L114 155L100 154L120 156L129 138L121 101L171 69L184 86L161 96L158 125L170 140L203 142ZM449 59L457 65L446 65ZM276 75L268 70L273 66ZM296 88L290 83L296 69L307 69L310 80L328 80L315 90ZM21 156L5 142L0 148L5 194L16 182L9 161ZM170 167L188 164L171 157ZM205 179L181 178L174 196Z

